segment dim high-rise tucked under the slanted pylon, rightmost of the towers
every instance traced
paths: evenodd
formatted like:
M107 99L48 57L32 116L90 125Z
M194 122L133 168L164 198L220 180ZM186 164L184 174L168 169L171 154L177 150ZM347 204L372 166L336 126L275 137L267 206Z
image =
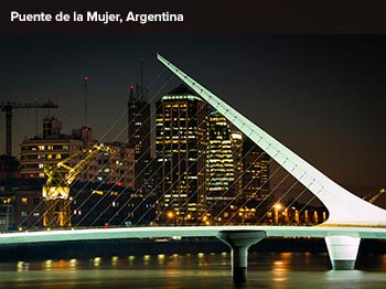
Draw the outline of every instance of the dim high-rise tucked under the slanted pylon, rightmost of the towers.
M243 194L250 206L256 206L269 193L269 156L246 138L243 144Z

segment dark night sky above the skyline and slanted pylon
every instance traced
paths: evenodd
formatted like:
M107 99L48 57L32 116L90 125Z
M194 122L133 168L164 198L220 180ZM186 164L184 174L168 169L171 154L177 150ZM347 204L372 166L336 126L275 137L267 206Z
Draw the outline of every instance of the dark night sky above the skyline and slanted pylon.
M50 98L60 109L39 110L39 133L49 114L71 132L85 125L87 74L94 137L125 141L127 86L140 82L140 58L149 98L179 84L157 52L344 188L365 195L386 186L386 36L3 35L0 99ZM35 135L34 114L13 110L15 156ZM0 131L3 153L4 114Z

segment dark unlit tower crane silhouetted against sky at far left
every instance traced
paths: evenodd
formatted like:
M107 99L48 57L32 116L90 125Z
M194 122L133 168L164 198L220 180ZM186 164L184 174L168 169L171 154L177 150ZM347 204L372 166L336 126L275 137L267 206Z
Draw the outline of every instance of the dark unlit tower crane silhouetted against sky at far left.
M0 101L0 109L6 113L6 154L12 156L12 110L15 108L57 108L52 101L39 103L14 103Z

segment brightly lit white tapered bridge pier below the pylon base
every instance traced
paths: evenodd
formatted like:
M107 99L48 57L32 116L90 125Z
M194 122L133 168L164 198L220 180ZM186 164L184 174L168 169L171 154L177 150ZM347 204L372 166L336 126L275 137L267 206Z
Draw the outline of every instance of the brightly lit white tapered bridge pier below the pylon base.
M328 236L324 238L334 270L353 270L361 238L350 236Z

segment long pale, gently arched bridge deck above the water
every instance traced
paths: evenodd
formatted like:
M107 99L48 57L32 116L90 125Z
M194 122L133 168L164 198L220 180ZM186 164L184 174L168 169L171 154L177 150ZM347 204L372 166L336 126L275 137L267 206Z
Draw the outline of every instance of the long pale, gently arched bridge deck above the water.
M161 237L216 237L223 229L265 231L267 237L317 237L352 236L360 238L386 239L386 228L379 227L325 227L325 226L165 226L61 229L41 232L18 232L0 235L1 244L117 239L117 238L161 238Z

